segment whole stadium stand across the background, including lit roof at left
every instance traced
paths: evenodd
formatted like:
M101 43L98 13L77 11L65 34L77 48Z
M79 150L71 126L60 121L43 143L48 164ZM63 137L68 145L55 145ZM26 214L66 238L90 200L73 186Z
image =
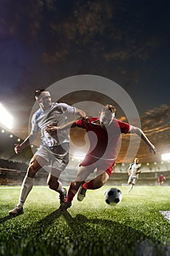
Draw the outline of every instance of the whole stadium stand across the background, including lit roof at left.
M25 148L20 155L16 155L14 152L15 143L21 143L23 140L10 132L0 127L0 185L20 185L23 178L26 175L28 168L28 162L30 161L36 146L33 148ZM80 159L74 159L71 157L68 167L61 174L61 181L64 185L69 185L77 175L77 170L80 164ZM126 185L128 181L128 166L127 163L117 163L113 170L112 176L107 181L107 184L111 186ZM34 181L35 185L45 185L47 181L49 168L41 169L36 173ZM165 186L170 185L170 162L152 162L142 163L142 173L139 175L137 185L154 186L158 184L158 176L163 173L166 177L164 181ZM93 178L92 174L89 178Z

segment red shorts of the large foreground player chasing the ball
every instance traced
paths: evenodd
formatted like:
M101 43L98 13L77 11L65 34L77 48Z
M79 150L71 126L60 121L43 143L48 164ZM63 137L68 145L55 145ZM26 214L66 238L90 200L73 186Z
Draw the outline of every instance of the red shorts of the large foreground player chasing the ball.
M97 170L104 170L109 176L111 176L113 172L114 165L115 161L113 160L97 159L95 157L89 156L88 154L85 156L85 159L80 164L80 166L89 167L92 172L96 168Z

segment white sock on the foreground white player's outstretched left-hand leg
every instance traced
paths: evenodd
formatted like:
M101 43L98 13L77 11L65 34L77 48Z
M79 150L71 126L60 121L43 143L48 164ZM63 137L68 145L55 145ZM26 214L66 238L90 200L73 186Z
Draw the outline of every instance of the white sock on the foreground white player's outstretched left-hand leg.
M33 184L34 184L34 178L30 178L26 176L23 179L23 184L20 189L20 197L19 197L19 203L18 203L19 207L22 207L23 204L25 203L26 197L28 197L28 194L31 191Z

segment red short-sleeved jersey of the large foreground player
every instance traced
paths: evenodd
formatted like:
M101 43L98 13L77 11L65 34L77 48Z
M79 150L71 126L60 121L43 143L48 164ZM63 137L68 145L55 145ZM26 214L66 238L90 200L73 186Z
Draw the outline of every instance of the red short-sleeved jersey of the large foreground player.
M99 121L98 117L90 118L88 121L85 119L77 121L77 127L82 127L88 132L90 140L88 154L92 157L115 161L120 134L129 132L130 125L114 118L108 127L101 127L97 121Z

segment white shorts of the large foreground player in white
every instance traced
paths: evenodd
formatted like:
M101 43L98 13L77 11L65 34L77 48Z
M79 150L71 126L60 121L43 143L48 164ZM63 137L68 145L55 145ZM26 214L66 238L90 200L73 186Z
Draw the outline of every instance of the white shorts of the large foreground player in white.
M69 143L64 143L64 146L40 146L34 156L42 157L47 161L47 166L62 172L69 163Z

